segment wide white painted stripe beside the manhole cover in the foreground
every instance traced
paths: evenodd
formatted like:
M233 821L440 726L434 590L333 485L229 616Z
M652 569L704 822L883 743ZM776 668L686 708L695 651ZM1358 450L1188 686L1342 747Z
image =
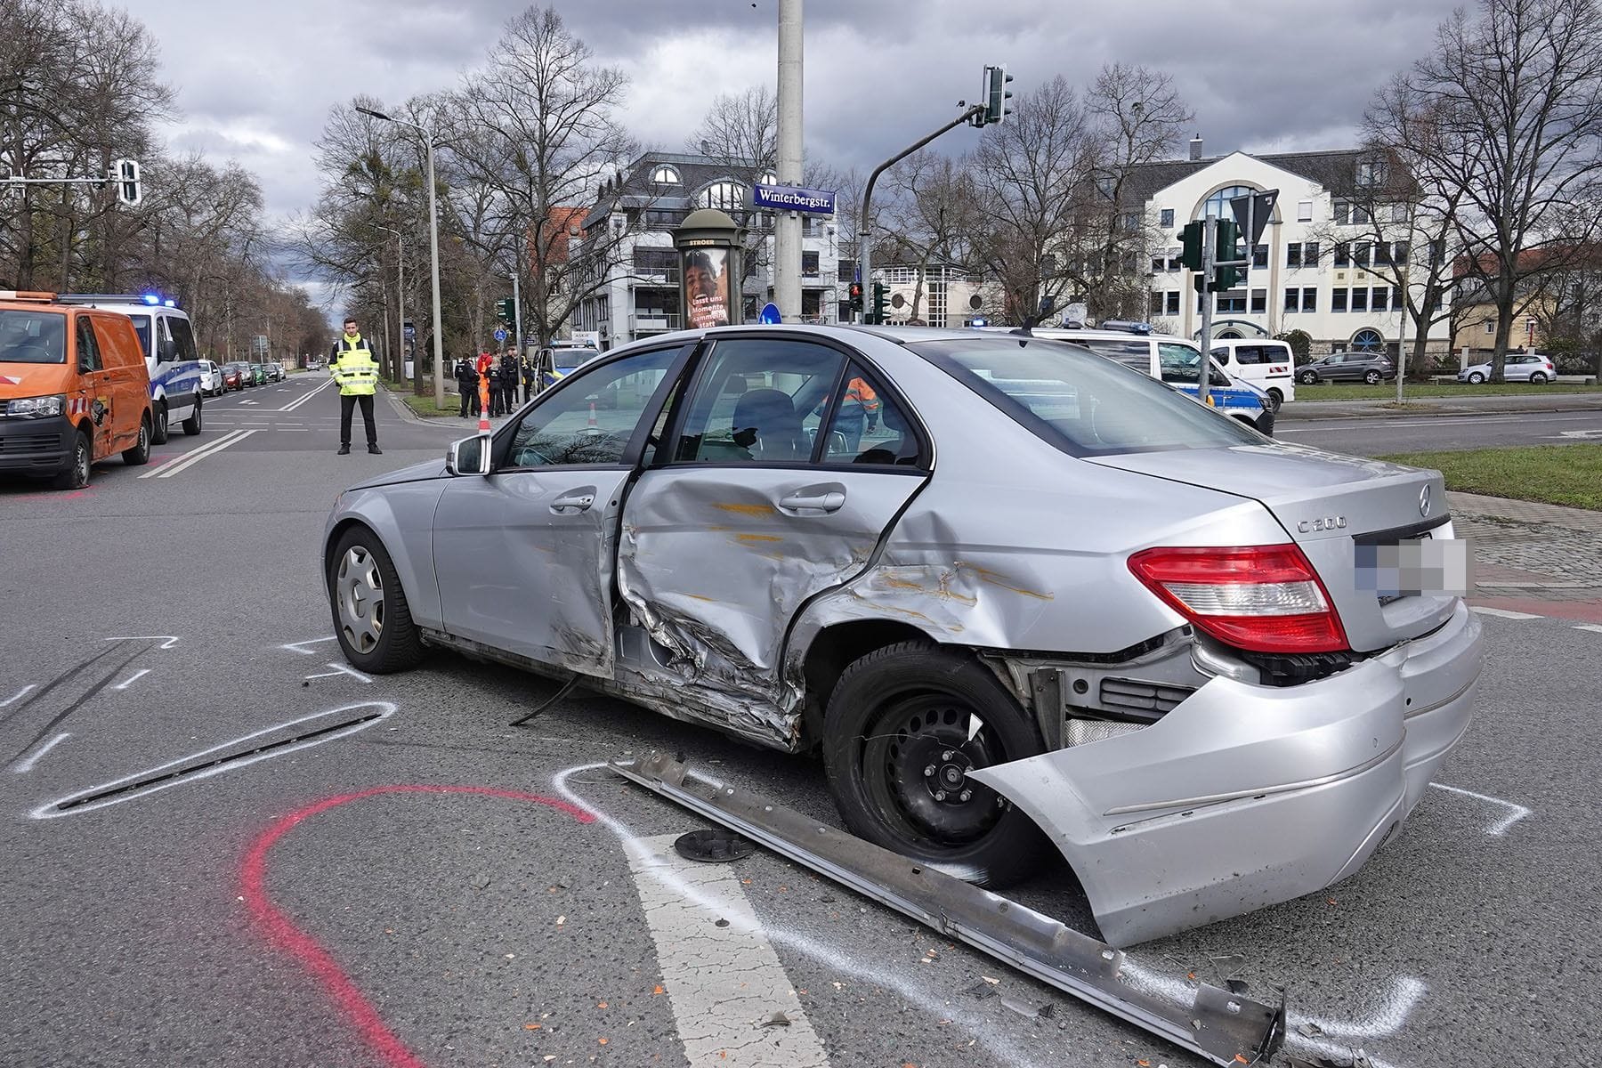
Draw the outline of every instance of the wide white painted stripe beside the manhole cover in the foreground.
M756 1066L825 1068L828 1054L803 1014L779 954L763 935L737 869L684 860L673 852L674 837L642 839L644 849L630 852L628 868L657 943L662 985L684 1057L697 1068L726 1065L731 1058ZM718 921L678 893L674 882L714 903ZM783 1012L790 1026L764 1028L763 1020L774 1012Z

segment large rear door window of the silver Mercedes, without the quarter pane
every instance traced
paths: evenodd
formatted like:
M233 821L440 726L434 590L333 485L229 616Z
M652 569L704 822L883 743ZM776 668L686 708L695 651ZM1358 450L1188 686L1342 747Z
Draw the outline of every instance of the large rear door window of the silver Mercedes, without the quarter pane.
M811 463L844 362L838 351L811 341L718 341L690 394L673 458Z

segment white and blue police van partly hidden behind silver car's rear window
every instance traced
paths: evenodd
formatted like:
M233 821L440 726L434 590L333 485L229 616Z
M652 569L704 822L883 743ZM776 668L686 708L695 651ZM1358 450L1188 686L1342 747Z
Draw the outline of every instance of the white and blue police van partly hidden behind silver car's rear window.
M990 327L1006 331L1006 327ZM1081 327L1035 327L1030 333L1053 341L1083 344L1097 355L1105 355L1142 375L1168 383L1192 399L1202 395L1202 349L1184 338L1150 333L1147 323L1104 322L1101 330ZM1208 371L1208 404L1264 434L1274 434L1274 402L1269 395L1240 378L1234 378L1213 360Z

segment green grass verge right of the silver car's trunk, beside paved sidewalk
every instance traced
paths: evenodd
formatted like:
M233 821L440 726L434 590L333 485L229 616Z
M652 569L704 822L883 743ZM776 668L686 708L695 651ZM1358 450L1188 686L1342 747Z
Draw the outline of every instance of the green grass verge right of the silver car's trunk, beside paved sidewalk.
M1602 445L1520 445L1381 456L1447 476L1448 490L1602 511Z

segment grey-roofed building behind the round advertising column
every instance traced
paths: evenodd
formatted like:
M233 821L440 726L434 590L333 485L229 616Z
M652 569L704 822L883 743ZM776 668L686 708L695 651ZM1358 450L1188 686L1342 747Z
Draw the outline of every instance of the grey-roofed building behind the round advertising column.
M583 231L622 232L622 256L607 282L574 315L574 331L594 331L602 349L682 328L679 266L673 229L695 208L727 211L751 229L742 282L745 322L772 299L772 213L751 210L751 183L771 184L771 173L729 165L710 155L647 152L609 184L585 216ZM839 259L831 216L801 215L801 319L833 323L849 312L846 287L854 267Z

